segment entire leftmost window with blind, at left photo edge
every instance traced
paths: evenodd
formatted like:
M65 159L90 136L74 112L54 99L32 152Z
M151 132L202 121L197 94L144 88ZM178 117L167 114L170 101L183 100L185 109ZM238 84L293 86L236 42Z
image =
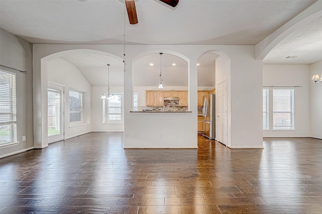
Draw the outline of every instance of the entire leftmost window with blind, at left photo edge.
M0 71L0 144L16 141L16 75Z

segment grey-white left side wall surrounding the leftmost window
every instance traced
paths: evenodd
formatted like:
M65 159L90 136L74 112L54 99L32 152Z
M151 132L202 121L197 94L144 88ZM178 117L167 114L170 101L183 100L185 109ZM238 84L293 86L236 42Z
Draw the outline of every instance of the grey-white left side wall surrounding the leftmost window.
M0 64L29 72L5 68L16 73L17 96L17 140L18 145L0 149L0 158L24 152L33 148L33 96L32 96L32 45L0 28ZM22 141L26 136L26 141Z

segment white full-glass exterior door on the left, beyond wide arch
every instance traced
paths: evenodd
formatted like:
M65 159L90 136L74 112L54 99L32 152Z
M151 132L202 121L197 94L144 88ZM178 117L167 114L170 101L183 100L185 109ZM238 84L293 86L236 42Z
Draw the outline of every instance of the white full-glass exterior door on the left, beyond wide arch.
M48 143L64 139L64 87L48 83Z

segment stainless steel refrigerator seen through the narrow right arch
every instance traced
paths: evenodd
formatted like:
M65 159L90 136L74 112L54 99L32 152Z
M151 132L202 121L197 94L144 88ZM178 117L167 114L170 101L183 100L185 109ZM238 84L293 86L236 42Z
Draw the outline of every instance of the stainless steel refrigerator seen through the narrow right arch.
M210 93L206 96L203 104L202 114L205 117L203 126L205 134L202 136L214 140L215 139L215 94Z

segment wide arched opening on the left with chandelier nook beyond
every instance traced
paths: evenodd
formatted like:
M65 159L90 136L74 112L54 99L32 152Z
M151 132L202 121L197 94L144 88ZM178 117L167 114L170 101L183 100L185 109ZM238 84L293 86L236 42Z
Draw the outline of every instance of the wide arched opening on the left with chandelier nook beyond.
M35 129L35 133L41 132L37 135L51 143L93 131L123 132L122 61L113 54L90 49L62 51L43 57L42 129ZM120 102L119 108L113 110L116 114L108 108L112 101L101 99L102 93L108 91L108 82L110 91L119 98L115 99Z

